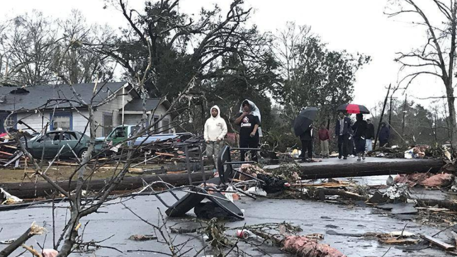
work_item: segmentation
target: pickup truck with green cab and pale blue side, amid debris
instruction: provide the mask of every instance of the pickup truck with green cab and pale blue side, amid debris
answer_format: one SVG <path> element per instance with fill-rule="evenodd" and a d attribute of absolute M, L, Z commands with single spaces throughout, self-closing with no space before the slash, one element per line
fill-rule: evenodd
<path fill-rule="evenodd" d="M 134 146 L 138 146 L 164 142 L 167 140 L 176 140 L 177 142 L 182 142 L 193 136 L 191 133 L 153 134 L 150 132 L 136 138 L 135 140 L 126 141 L 129 137 L 132 137 L 138 129 L 139 126 L 137 125 L 117 126 L 108 136 L 96 138 L 95 150 L 100 151 L 104 148 L 112 147 L 112 150 L 116 151 L 117 148 L 122 146 L 130 146 L 132 143 Z"/>

